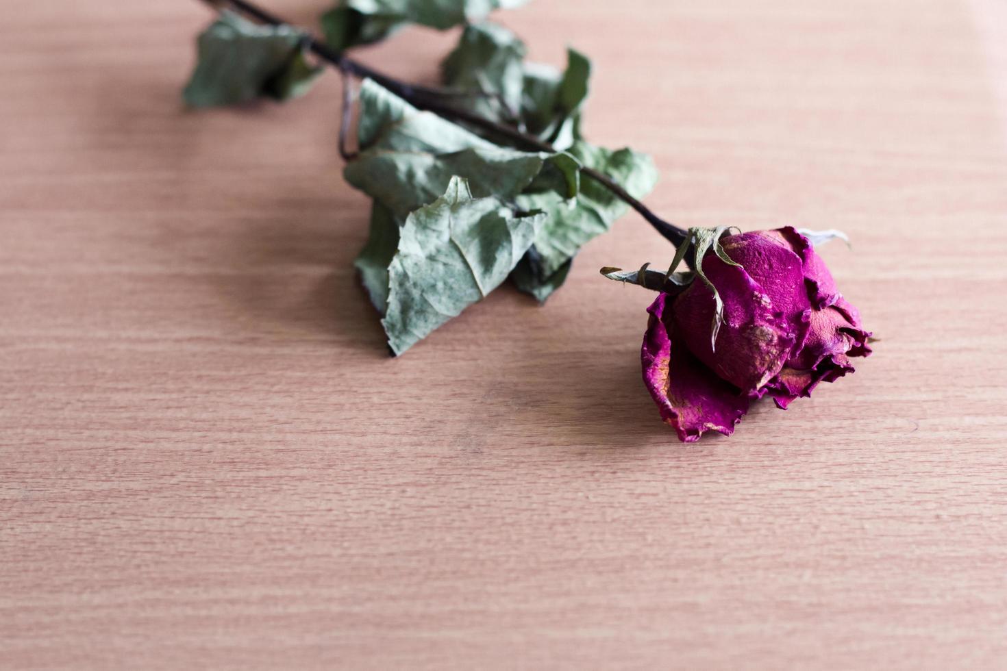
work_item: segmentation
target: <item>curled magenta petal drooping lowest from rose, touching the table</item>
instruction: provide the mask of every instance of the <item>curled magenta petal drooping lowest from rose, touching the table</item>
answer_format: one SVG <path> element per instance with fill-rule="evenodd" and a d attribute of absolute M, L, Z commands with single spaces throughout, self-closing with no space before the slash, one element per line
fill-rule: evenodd
<path fill-rule="evenodd" d="M 643 382 L 681 441 L 693 443 L 707 431 L 730 436 L 748 409 L 748 399 L 693 356 L 682 338 L 673 337 L 671 316 L 665 314 L 668 301 L 667 294 L 660 294 L 648 309 L 651 320 L 640 353 Z"/>

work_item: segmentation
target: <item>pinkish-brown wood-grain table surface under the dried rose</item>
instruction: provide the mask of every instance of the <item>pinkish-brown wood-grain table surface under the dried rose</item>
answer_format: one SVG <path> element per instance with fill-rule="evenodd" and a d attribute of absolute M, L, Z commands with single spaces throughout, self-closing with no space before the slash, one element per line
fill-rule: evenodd
<path fill-rule="evenodd" d="M 538 0 L 685 225 L 841 228 L 855 375 L 683 446 L 638 217 L 401 359 L 338 77 L 187 112 L 182 0 L 0 21 L 0 667 L 1004 668 L 1007 5 Z M 298 21 L 321 0 L 266 0 Z M 431 80 L 454 34 L 362 57 Z"/>

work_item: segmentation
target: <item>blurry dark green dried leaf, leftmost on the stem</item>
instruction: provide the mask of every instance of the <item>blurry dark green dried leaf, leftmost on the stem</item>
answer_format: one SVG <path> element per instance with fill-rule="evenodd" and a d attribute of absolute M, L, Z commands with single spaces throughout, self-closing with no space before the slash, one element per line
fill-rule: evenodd
<path fill-rule="evenodd" d="M 223 12 L 199 35 L 195 69 L 182 97 L 205 108 L 301 96 L 321 71 L 305 60 L 304 37 L 288 25 L 258 25 Z"/>

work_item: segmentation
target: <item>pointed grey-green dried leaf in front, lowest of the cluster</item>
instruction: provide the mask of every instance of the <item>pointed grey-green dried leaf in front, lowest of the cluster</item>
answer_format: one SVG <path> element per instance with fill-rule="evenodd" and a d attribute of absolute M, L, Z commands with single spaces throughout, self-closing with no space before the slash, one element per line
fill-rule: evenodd
<path fill-rule="evenodd" d="M 515 218 L 495 198 L 474 198 L 461 178 L 410 214 L 388 271 L 382 325 L 392 351 L 402 354 L 498 287 L 544 218 Z"/>

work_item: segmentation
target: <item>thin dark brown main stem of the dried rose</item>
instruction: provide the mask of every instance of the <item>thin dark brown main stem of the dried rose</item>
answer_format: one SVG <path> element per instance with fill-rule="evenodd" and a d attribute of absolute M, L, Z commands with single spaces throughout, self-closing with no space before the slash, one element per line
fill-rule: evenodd
<path fill-rule="evenodd" d="M 283 19 L 257 7 L 250 2 L 246 2 L 245 0 L 203 0 L 203 2 L 213 6 L 214 8 L 219 8 L 222 5 L 230 5 L 240 12 L 269 25 L 284 25 L 287 23 Z M 432 112 L 437 116 L 450 121 L 460 121 L 476 128 L 481 128 L 484 131 L 501 135 L 527 149 L 550 153 L 556 152 L 556 149 L 548 142 L 543 142 L 542 140 L 539 140 L 538 138 L 527 133 L 523 133 L 516 128 L 497 124 L 478 115 L 466 112 L 465 110 L 459 110 L 450 105 L 445 105 L 438 100 L 444 98 L 443 94 L 445 92 L 429 87 L 419 87 L 406 83 L 405 81 L 400 81 L 399 79 L 388 76 L 387 74 L 383 74 L 382 72 L 374 70 L 359 61 L 353 60 L 342 51 L 336 51 L 329 48 L 324 42 L 319 41 L 310 35 L 307 37 L 306 45 L 311 52 L 318 56 L 321 60 L 334 65 L 343 72 L 348 72 L 361 78 L 374 79 L 375 82 L 381 85 L 385 89 L 388 89 L 399 98 L 407 101 L 420 110 L 426 110 L 427 112 Z M 595 170 L 594 168 L 587 167 L 581 168 L 581 172 L 600 183 L 606 189 L 611 191 L 619 200 L 622 200 L 624 203 L 639 212 L 640 216 L 646 219 L 646 221 L 654 226 L 659 233 L 664 235 L 675 246 L 679 246 L 688 239 L 689 234 L 685 230 L 669 221 L 666 221 L 665 219 L 662 219 L 650 207 L 629 195 L 625 189 L 619 186 L 619 184 L 608 175 Z"/>

